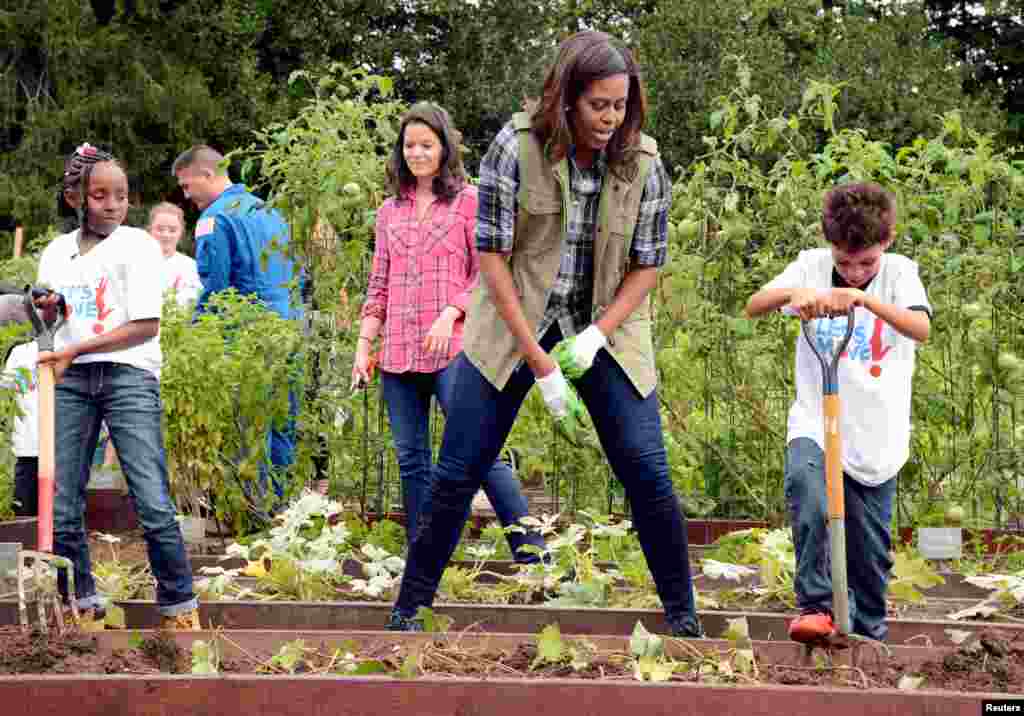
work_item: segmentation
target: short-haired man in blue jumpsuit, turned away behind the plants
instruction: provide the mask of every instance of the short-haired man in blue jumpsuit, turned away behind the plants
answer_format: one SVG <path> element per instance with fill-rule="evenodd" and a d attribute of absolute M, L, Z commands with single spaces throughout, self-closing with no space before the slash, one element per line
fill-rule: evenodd
<path fill-rule="evenodd" d="M 207 309 L 211 295 L 233 288 L 242 295 L 254 295 L 283 319 L 301 320 L 301 304 L 291 293 L 295 263 L 284 253 L 289 228 L 281 214 L 244 184 L 231 182 L 223 155 L 205 144 L 183 152 L 171 171 L 185 198 L 203 212 L 196 224 L 196 264 L 203 282 L 196 315 Z M 282 429 L 271 429 L 268 436 L 275 471 L 294 461 L 294 391 L 289 401 L 293 419 Z M 274 489 L 281 497 L 281 486 L 274 482 Z"/>

